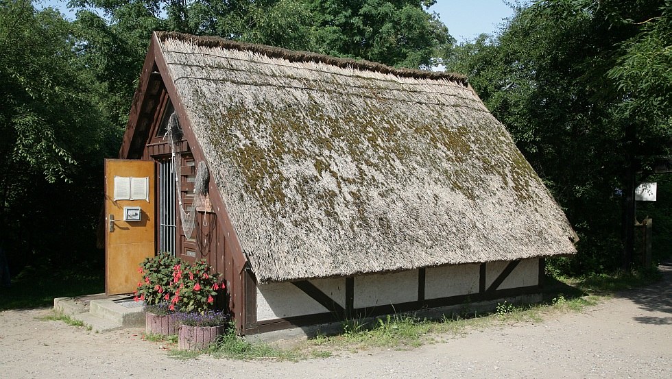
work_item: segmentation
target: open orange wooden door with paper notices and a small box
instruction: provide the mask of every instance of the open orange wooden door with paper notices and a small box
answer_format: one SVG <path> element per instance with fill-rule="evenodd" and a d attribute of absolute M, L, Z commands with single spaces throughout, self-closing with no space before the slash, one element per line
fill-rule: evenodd
<path fill-rule="evenodd" d="M 150 160 L 105 160 L 105 293 L 108 295 L 135 291 L 141 280 L 140 263 L 154 256 L 154 172 L 154 162 Z"/>

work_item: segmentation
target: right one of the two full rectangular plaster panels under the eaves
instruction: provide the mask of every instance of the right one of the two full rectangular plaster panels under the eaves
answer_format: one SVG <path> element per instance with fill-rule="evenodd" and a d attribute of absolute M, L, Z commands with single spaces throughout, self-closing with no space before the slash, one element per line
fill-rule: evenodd
<path fill-rule="evenodd" d="M 424 298 L 477 293 L 480 272 L 480 265 L 427 267 L 424 271 Z"/>

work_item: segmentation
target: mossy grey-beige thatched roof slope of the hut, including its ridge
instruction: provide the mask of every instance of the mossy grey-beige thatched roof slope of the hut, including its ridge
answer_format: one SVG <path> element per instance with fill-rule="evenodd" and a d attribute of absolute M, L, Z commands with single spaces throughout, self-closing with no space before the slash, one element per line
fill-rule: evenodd
<path fill-rule="evenodd" d="M 576 252 L 464 77 L 158 40 L 260 282 Z"/>

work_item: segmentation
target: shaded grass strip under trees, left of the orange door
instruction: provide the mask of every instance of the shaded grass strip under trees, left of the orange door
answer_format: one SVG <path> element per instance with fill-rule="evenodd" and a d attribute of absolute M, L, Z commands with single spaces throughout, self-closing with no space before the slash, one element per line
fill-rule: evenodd
<path fill-rule="evenodd" d="M 27 266 L 12 278 L 12 286 L 0 287 L 0 311 L 53 306 L 54 297 L 74 297 L 105 291 L 103 271 L 53 272 L 48 268 Z"/>

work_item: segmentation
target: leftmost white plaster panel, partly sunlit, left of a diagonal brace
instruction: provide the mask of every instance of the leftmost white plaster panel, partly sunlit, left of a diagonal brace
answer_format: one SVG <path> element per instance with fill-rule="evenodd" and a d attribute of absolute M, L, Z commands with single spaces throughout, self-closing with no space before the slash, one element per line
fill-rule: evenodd
<path fill-rule="evenodd" d="M 256 287 L 258 321 L 328 312 L 291 283 L 260 284 Z"/>

